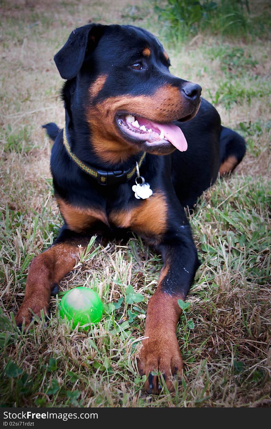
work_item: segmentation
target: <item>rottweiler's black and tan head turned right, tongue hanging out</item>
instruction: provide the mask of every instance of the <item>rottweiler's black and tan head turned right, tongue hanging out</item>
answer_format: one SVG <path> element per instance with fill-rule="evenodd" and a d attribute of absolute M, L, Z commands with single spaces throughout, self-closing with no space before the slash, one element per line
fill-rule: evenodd
<path fill-rule="evenodd" d="M 72 31 L 54 60 L 63 79 L 75 80 L 73 109 L 101 160 L 186 150 L 172 121 L 194 118 L 201 88 L 170 74 L 169 57 L 151 33 L 89 24 Z"/>

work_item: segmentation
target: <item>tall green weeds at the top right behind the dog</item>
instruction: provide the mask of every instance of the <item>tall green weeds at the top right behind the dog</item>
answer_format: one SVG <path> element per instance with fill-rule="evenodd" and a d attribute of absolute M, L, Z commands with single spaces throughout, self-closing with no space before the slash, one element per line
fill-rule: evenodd
<path fill-rule="evenodd" d="M 155 1 L 154 12 L 162 31 L 171 42 L 183 42 L 198 32 L 249 38 L 270 27 L 265 14 L 254 18 L 248 1 L 168 0 Z"/>

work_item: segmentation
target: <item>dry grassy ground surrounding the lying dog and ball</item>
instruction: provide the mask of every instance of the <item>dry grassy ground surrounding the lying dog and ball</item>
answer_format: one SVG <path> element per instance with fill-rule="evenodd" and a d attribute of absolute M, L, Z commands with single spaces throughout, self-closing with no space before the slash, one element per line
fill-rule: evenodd
<path fill-rule="evenodd" d="M 1 403 L 270 406 L 268 37 L 199 33 L 170 43 L 151 3 L 131 0 L 1 1 L 0 12 Z M 159 36 L 171 72 L 199 83 L 223 124 L 247 140 L 236 172 L 207 190 L 190 215 L 202 265 L 178 325 L 184 375 L 174 393 L 164 386 L 160 396 L 144 393 L 135 356 L 162 263 L 138 237 L 82 254 L 61 283 L 62 291 L 78 285 L 99 293 L 104 316 L 93 330 L 69 329 L 59 320 L 57 298 L 47 327 L 37 321 L 21 333 L 14 326 L 30 261 L 51 245 L 61 225 L 49 169 L 51 142 L 40 128 L 51 121 L 64 125 L 62 79 L 53 56 L 74 27 L 90 21 L 132 23 Z"/>

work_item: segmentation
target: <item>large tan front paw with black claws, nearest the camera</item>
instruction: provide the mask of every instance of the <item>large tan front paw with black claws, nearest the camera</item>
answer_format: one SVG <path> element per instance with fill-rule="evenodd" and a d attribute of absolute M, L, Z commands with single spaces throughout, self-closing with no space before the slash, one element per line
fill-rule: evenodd
<path fill-rule="evenodd" d="M 182 356 L 176 335 L 143 340 L 137 367 L 140 375 L 147 377 L 145 382 L 147 393 L 154 395 L 161 393 L 163 387 L 161 377 L 164 378 L 167 388 L 170 391 L 174 390 L 174 380 L 182 376 Z M 159 373 L 160 379 L 152 372 Z"/>

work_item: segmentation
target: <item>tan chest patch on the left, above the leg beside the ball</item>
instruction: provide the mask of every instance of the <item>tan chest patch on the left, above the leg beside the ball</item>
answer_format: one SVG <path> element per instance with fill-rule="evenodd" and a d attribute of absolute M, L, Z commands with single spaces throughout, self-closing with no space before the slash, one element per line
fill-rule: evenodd
<path fill-rule="evenodd" d="M 80 233 L 90 228 L 96 221 L 101 221 L 108 226 L 107 216 L 103 211 L 95 208 L 73 207 L 59 197 L 57 198 L 57 204 L 63 219 L 71 231 Z"/>

